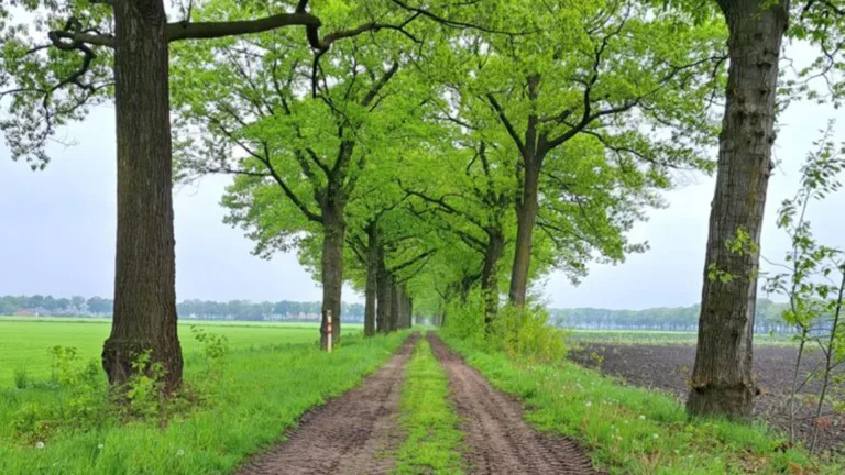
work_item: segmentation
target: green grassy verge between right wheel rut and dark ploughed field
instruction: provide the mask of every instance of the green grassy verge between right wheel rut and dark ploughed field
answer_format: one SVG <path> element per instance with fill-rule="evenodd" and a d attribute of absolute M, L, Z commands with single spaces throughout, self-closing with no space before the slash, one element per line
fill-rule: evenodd
<path fill-rule="evenodd" d="M 575 364 L 515 362 L 462 341 L 446 341 L 497 388 L 531 409 L 540 430 L 568 435 L 611 474 L 842 474 L 761 426 L 691 423 L 672 398 L 622 386 Z"/>

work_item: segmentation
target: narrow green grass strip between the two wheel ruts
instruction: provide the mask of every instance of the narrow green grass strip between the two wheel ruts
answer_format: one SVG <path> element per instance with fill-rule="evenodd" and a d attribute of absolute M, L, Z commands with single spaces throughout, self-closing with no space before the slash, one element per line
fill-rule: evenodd
<path fill-rule="evenodd" d="M 449 378 L 419 339 L 405 372 L 399 424 L 407 434 L 397 454 L 399 474 L 463 474 L 460 419 L 449 400 Z"/>

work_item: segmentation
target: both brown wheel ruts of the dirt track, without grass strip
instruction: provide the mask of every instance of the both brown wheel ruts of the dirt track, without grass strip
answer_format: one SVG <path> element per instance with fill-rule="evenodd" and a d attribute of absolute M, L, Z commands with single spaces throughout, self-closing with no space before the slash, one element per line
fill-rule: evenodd
<path fill-rule="evenodd" d="M 404 441 L 398 404 L 417 334 L 363 384 L 306 415 L 286 443 L 256 456 L 240 475 L 391 474 L 391 453 Z M 523 419 L 522 405 L 493 388 L 432 333 L 431 349 L 449 376 L 450 400 L 462 418 L 470 474 L 595 474 L 573 442 L 546 437 Z"/>

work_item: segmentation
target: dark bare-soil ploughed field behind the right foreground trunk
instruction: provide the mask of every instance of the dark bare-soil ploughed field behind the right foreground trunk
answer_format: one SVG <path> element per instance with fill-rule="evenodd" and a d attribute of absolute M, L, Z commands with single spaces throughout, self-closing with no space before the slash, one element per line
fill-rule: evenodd
<path fill-rule="evenodd" d="M 792 385 L 795 355 L 790 346 L 760 346 L 754 352 L 755 380 L 760 395 L 757 396 L 755 412 L 771 427 L 787 431 L 788 395 Z M 804 356 L 800 368 L 801 377 L 821 363 L 821 354 Z M 601 368 L 607 375 L 617 376 L 629 385 L 669 393 L 680 400 L 687 398 L 688 380 L 695 361 L 693 345 L 625 345 L 586 344 L 570 352 L 575 362 L 592 368 Z M 808 384 L 811 393 L 817 382 Z M 839 390 L 845 388 L 838 388 Z M 803 395 L 806 396 L 808 391 Z M 804 399 L 797 415 L 795 434 L 809 443 L 812 434 L 812 401 Z M 820 432 L 822 450 L 845 453 L 845 417 L 827 408 Z"/>

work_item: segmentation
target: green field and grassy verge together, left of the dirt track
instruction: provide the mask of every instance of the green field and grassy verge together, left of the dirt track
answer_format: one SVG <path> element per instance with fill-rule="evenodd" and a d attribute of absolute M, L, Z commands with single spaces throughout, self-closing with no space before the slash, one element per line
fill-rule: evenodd
<path fill-rule="evenodd" d="M 30 325 L 40 329 L 41 341 L 28 343 L 37 357 L 46 355 L 41 346 L 56 343 L 76 343 L 80 351 L 85 349 L 85 357 L 96 357 L 103 328 L 108 329 L 103 322 L 7 320 L 0 325 L 21 332 Z M 175 412 L 166 424 L 155 417 L 127 419 L 114 412 L 119 407 L 103 406 L 106 387 L 99 371 L 92 389 L 83 380 L 68 387 L 0 387 L 0 474 L 232 473 L 249 454 L 284 440 L 285 431 L 306 410 L 359 385 L 407 336 L 400 332 L 365 340 L 352 330 L 328 354 L 314 344 L 315 325 L 205 328 L 230 336 L 233 344 L 224 358 L 212 362 L 198 351 L 188 325 L 180 327 L 188 349 L 185 384 L 189 399 L 173 407 Z M 3 341 L 14 342 L 7 334 Z M 74 362 L 75 366 L 83 364 Z"/>

